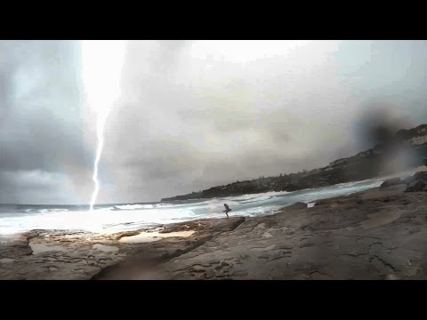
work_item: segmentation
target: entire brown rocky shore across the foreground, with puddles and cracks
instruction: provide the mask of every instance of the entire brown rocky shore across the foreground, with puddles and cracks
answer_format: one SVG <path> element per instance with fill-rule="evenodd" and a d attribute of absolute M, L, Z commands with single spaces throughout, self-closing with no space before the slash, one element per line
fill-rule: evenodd
<path fill-rule="evenodd" d="M 257 218 L 32 230 L 1 241 L 0 279 L 427 279 L 427 173 L 402 178 Z"/>

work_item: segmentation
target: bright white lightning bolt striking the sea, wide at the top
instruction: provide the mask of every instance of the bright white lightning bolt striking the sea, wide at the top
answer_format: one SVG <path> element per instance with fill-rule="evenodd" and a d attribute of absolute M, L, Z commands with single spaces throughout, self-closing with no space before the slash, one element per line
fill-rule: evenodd
<path fill-rule="evenodd" d="M 125 60 L 124 40 L 93 40 L 83 41 L 83 81 L 86 101 L 97 116 L 95 161 L 93 163 L 93 194 L 90 211 L 100 191 L 99 164 L 104 146 L 104 127 L 113 107 L 120 95 L 120 78 Z"/>

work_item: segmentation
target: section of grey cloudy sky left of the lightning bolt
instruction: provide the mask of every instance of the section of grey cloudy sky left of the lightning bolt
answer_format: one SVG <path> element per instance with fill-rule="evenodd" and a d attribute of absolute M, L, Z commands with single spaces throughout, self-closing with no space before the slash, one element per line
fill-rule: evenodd
<path fill-rule="evenodd" d="M 72 41 L 0 43 L 0 202 L 86 202 L 79 51 Z"/>

